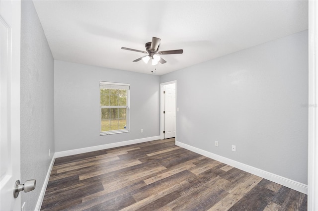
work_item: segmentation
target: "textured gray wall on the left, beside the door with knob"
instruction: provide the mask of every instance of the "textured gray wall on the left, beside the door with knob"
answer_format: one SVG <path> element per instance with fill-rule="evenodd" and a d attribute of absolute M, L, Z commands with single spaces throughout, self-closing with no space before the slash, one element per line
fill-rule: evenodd
<path fill-rule="evenodd" d="M 32 1 L 21 1 L 21 182 L 36 189 L 21 193 L 34 210 L 54 154 L 54 60 Z M 49 156 L 51 149 L 51 156 Z"/>

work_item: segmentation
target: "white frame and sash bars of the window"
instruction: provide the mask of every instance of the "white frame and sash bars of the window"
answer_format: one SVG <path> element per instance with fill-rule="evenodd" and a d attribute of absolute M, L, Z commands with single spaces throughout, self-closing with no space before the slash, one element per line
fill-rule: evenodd
<path fill-rule="evenodd" d="M 99 126 L 100 126 L 100 135 L 109 135 L 109 134 L 117 134 L 117 133 L 126 133 L 130 132 L 130 118 L 129 118 L 129 108 L 130 108 L 130 84 L 124 83 L 115 83 L 115 82 L 105 82 L 99 81 L 99 100 L 100 100 L 100 89 L 101 88 L 109 88 L 109 89 L 126 89 L 127 90 L 127 106 L 101 106 L 99 104 Z M 110 130 L 110 131 L 101 131 L 101 109 L 102 108 L 126 108 L 126 129 L 123 130 Z"/>

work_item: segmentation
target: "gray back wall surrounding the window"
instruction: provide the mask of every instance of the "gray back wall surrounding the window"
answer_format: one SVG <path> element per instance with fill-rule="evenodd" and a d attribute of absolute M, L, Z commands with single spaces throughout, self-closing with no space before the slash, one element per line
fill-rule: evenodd
<path fill-rule="evenodd" d="M 56 152 L 159 136 L 159 76 L 57 60 L 54 71 Z M 130 132 L 99 135 L 99 81 L 130 84 Z"/>

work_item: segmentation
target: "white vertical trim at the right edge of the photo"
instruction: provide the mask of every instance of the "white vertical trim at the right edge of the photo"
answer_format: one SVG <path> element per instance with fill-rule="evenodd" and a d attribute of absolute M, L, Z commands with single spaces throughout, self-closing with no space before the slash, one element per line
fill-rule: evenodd
<path fill-rule="evenodd" d="M 308 203 L 318 210 L 318 3 L 309 1 Z"/>

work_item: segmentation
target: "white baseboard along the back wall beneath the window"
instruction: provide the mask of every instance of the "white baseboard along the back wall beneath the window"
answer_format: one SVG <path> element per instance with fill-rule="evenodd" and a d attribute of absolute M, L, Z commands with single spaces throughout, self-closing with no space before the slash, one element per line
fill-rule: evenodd
<path fill-rule="evenodd" d="M 65 156 L 73 156 L 73 155 L 78 155 L 81 153 L 89 153 L 89 152 L 93 152 L 93 151 L 97 151 L 97 150 L 105 150 L 105 149 L 110 149 L 110 148 L 114 148 L 114 147 L 122 147 L 122 146 L 138 144 L 138 143 L 143 143 L 143 142 L 148 142 L 148 141 L 155 141 L 155 140 L 159 140 L 159 138 L 160 138 L 160 136 L 153 136 L 153 137 L 134 139 L 134 140 L 129 140 L 129 141 L 116 142 L 116 143 L 111 143 L 111 144 L 98 145 L 98 146 L 93 146 L 93 147 L 80 148 L 80 149 L 75 149 L 75 150 L 56 152 L 55 158 L 61 158 L 61 157 L 65 157 Z"/>

